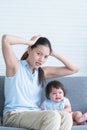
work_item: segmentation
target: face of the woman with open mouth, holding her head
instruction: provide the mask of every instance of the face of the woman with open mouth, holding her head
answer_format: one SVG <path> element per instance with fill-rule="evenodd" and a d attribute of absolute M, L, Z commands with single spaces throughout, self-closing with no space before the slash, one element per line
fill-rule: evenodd
<path fill-rule="evenodd" d="M 38 45 L 36 48 L 29 48 L 28 63 L 31 68 L 38 68 L 44 64 L 50 55 L 50 49 L 48 46 Z"/>

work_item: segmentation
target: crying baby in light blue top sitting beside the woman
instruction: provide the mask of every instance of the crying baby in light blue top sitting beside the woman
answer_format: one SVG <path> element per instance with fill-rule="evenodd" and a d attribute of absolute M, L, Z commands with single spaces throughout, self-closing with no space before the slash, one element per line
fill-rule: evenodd
<path fill-rule="evenodd" d="M 72 112 L 71 104 L 65 97 L 64 86 L 61 82 L 54 80 L 46 86 L 46 99 L 41 104 L 42 110 L 67 111 L 72 114 L 73 125 L 85 124 L 87 113 L 80 111 Z"/>

